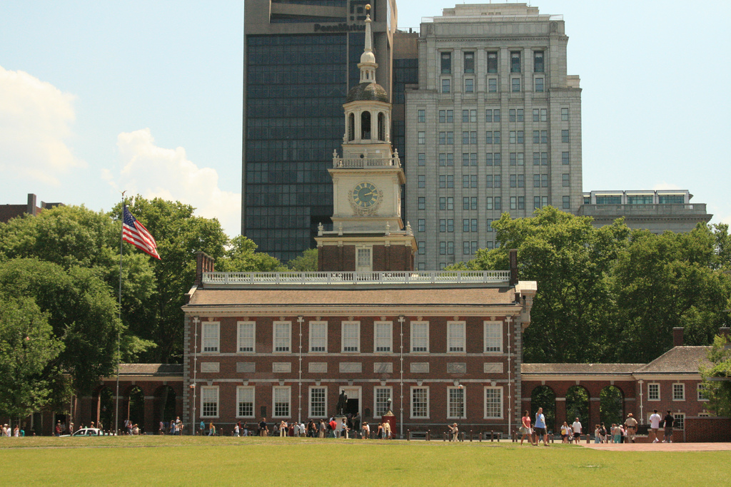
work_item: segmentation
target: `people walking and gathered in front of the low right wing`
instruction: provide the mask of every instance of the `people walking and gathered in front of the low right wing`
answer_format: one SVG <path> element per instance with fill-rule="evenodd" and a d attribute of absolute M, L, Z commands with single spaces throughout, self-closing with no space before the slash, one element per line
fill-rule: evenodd
<path fill-rule="evenodd" d="M 546 429 L 545 415 L 543 415 L 543 408 L 539 407 L 538 412 L 535 415 L 535 422 L 532 423 L 531 415 L 528 411 L 523 413 L 521 418 L 519 432 L 522 435 L 520 437 L 520 445 L 523 445 L 523 441 L 526 439 L 531 445 L 537 446 L 540 442 L 543 445 L 548 446 L 548 430 Z M 664 427 L 664 439 L 662 442 L 673 442 L 673 423 L 675 418 L 670 411 L 667 411 L 667 415 L 664 418 L 654 411 L 654 414 L 650 416 L 650 434 L 652 442 L 659 442 L 658 430 L 662 423 Z M 532 423 L 532 427 L 531 427 Z M 637 435 L 637 420 L 632 413 L 627 415 L 624 423 L 612 423 L 612 426 L 607 427 L 605 423 L 599 423 L 594 425 L 594 443 L 634 443 Z M 567 421 L 561 425 L 561 442 L 563 443 L 577 443 L 581 439 L 581 433 L 583 426 L 579 418 L 575 418 L 575 421 L 569 425 Z M 587 440 L 588 441 L 588 440 Z"/>

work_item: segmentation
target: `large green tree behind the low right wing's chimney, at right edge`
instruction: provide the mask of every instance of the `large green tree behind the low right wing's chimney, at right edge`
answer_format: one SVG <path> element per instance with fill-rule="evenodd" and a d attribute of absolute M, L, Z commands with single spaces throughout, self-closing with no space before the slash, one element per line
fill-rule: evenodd
<path fill-rule="evenodd" d="M 697 226 L 683 234 L 632 231 L 611 275 L 616 301 L 618 361 L 651 361 L 673 346 L 683 327 L 686 345 L 707 345 L 726 318 L 731 281 L 716 245 L 719 235 Z"/>

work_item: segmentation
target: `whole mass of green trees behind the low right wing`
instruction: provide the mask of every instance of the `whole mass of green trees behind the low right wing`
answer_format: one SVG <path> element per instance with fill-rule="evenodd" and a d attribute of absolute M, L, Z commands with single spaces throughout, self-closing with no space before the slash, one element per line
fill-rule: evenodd
<path fill-rule="evenodd" d="M 689 345 L 711 342 L 728 309 L 727 226 L 685 234 L 631 231 L 616 221 L 545 207 L 531 218 L 493 223 L 500 247 L 478 250 L 457 269 L 507 269 L 518 250 L 520 280 L 535 280 L 526 362 L 651 361 L 683 326 Z"/>

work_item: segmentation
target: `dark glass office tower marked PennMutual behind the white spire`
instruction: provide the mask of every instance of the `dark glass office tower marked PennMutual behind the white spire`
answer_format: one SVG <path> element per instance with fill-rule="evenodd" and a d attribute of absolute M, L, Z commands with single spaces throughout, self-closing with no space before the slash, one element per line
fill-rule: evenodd
<path fill-rule="evenodd" d="M 390 96 L 394 0 L 246 0 L 241 231 L 282 261 L 314 248 L 319 223 L 332 226 L 327 167 L 360 80 L 366 4 Z"/>

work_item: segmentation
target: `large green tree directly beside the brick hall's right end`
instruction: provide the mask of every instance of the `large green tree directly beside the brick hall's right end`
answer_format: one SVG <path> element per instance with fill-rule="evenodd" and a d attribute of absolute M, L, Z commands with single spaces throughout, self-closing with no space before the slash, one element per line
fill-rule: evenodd
<path fill-rule="evenodd" d="M 520 280 L 537 281 L 531 326 L 524 334 L 526 362 L 596 362 L 613 355 L 612 303 L 607 272 L 626 246 L 624 223 L 595 229 L 591 218 L 553 207 L 531 218 L 504 213 L 493 223 L 500 248 L 478 250 L 465 269 L 507 269 L 518 249 Z"/>

